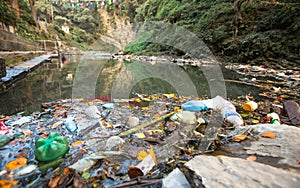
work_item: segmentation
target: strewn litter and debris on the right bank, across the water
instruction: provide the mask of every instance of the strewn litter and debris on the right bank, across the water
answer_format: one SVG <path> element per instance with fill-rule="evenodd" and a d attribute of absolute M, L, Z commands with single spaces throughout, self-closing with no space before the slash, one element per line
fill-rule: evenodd
<path fill-rule="evenodd" d="M 300 71 L 297 68 L 275 70 L 266 68 L 264 65 L 238 64 L 230 64 L 226 68 L 245 76 L 240 80 L 227 81 L 258 87 L 262 90 L 259 94 L 262 97 L 286 100 L 299 100 L 300 98 Z"/>

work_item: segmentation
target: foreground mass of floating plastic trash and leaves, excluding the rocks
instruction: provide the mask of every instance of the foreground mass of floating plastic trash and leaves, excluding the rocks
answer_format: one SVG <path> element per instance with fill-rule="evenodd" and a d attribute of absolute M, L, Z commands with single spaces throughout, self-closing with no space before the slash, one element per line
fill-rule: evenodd
<path fill-rule="evenodd" d="M 44 103 L 0 117 L 0 187 L 189 187 L 185 162 L 258 123 L 299 126 L 299 104 L 175 94 Z"/>

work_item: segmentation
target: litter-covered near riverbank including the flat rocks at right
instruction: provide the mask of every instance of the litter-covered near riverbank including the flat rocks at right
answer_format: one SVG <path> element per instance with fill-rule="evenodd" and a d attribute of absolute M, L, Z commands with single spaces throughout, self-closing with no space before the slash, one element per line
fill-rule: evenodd
<path fill-rule="evenodd" d="M 14 136 L 6 142 L 1 137 L 0 183 L 34 187 L 162 187 L 186 178 L 187 182 L 176 184 L 299 184 L 300 129 L 282 123 L 289 119 L 285 100 L 276 105 L 274 101 L 256 101 L 258 109 L 249 112 L 243 110 L 242 104 L 247 99 L 254 100 L 251 96 L 230 99 L 246 125 L 232 126 L 223 122 L 219 111 L 182 111 L 183 104 L 192 99 L 197 98 L 139 94 L 122 101 L 108 97 L 68 99 L 44 103 L 42 111 L 30 115 L 1 116 L 7 128 L 2 128 L 1 134 Z M 272 118 L 267 114 L 274 111 L 281 123 L 270 124 Z M 131 129 L 134 131 L 128 132 Z M 47 139 L 52 132 L 66 138 L 67 154 L 50 162 L 40 161 L 35 152 L 37 140 Z M 24 158 L 25 163 L 14 165 L 14 161 Z M 142 161 L 153 165 L 141 172 Z M 170 175 L 176 167 L 183 174 Z M 235 169 L 236 173 L 225 169 Z M 164 179 L 167 176 L 169 179 Z M 240 179 L 238 184 L 232 181 L 236 178 Z M 199 179 L 203 180 L 200 184 Z"/>

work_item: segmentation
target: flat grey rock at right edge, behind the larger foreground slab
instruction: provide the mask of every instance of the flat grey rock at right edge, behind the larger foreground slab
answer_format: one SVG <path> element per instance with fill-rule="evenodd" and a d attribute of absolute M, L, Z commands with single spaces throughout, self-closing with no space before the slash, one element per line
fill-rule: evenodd
<path fill-rule="evenodd" d="M 257 140 L 251 141 L 250 146 L 245 146 L 247 154 L 260 156 L 279 157 L 279 164 L 300 167 L 297 159 L 300 156 L 300 129 L 288 125 L 258 124 L 244 127 L 251 128 L 258 135 Z M 274 139 L 259 136 L 264 132 L 272 132 L 276 135 Z"/>

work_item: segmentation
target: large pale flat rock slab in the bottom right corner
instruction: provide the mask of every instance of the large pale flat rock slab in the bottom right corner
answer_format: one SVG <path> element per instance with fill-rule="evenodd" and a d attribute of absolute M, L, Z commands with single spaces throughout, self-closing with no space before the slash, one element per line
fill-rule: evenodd
<path fill-rule="evenodd" d="M 298 187 L 300 175 L 240 158 L 197 156 L 184 165 L 192 187 Z"/>

